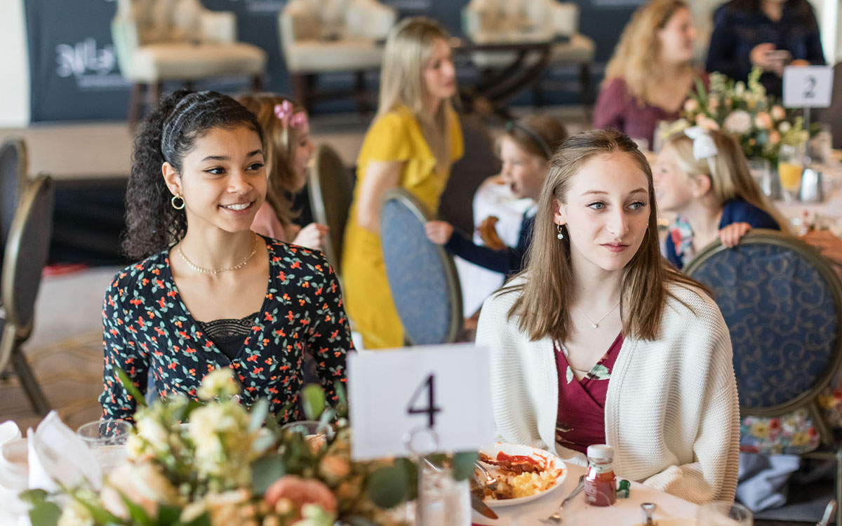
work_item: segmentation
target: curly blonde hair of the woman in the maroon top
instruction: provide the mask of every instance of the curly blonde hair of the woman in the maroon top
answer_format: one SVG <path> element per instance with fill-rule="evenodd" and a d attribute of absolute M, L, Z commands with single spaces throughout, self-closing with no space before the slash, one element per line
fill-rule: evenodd
<path fill-rule="evenodd" d="M 662 67 L 658 64 L 661 42 L 657 32 L 663 29 L 674 14 L 687 9 L 682 0 L 650 0 L 632 14 L 620 35 L 620 42 L 605 66 L 604 84 L 615 78 L 626 82 L 629 93 L 642 103 L 653 104 L 654 93 L 661 87 Z M 687 70 L 693 68 L 688 62 Z"/>

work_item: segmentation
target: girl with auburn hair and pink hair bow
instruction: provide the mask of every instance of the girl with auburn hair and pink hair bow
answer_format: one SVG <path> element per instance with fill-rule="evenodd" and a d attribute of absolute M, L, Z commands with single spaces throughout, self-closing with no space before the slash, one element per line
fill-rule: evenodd
<path fill-rule="evenodd" d="M 254 216 L 258 234 L 321 250 L 328 227 L 311 223 L 304 228 L 292 222 L 292 196 L 307 181 L 313 154 L 310 125 L 303 108 L 274 93 L 243 95 L 237 101 L 255 114 L 266 135 L 266 201 Z"/>

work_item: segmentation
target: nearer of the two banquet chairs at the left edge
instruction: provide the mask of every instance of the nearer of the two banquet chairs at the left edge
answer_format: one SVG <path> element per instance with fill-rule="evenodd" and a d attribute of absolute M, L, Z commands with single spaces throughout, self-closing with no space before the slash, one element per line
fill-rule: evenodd
<path fill-rule="evenodd" d="M 50 250 L 54 198 L 49 176 L 42 174 L 26 184 L 9 229 L 0 273 L 4 311 L 0 319 L 0 371 L 11 362 L 29 402 L 41 415 L 50 411 L 50 405 L 21 346 L 32 333 L 35 298 Z"/>

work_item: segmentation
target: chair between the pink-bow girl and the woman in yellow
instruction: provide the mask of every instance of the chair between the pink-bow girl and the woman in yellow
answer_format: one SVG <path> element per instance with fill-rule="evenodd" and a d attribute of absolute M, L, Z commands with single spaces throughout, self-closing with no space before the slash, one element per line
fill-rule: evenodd
<path fill-rule="evenodd" d="M 345 167 L 339 154 L 331 146 L 320 144 L 313 156 L 307 191 L 313 220 L 330 228 L 324 255 L 338 275 L 342 275 L 342 242 L 351 199 L 354 199 L 354 175 Z"/>

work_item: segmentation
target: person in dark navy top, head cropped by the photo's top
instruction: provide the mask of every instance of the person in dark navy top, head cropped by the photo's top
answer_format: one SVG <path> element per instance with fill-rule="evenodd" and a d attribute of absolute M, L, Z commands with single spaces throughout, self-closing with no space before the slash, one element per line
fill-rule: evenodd
<path fill-rule="evenodd" d="M 731 0 L 717 9 L 708 72 L 744 81 L 759 66 L 766 91 L 780 97 L 787 64 L 824 64 L 818 22 L 807 0 Z"/>

